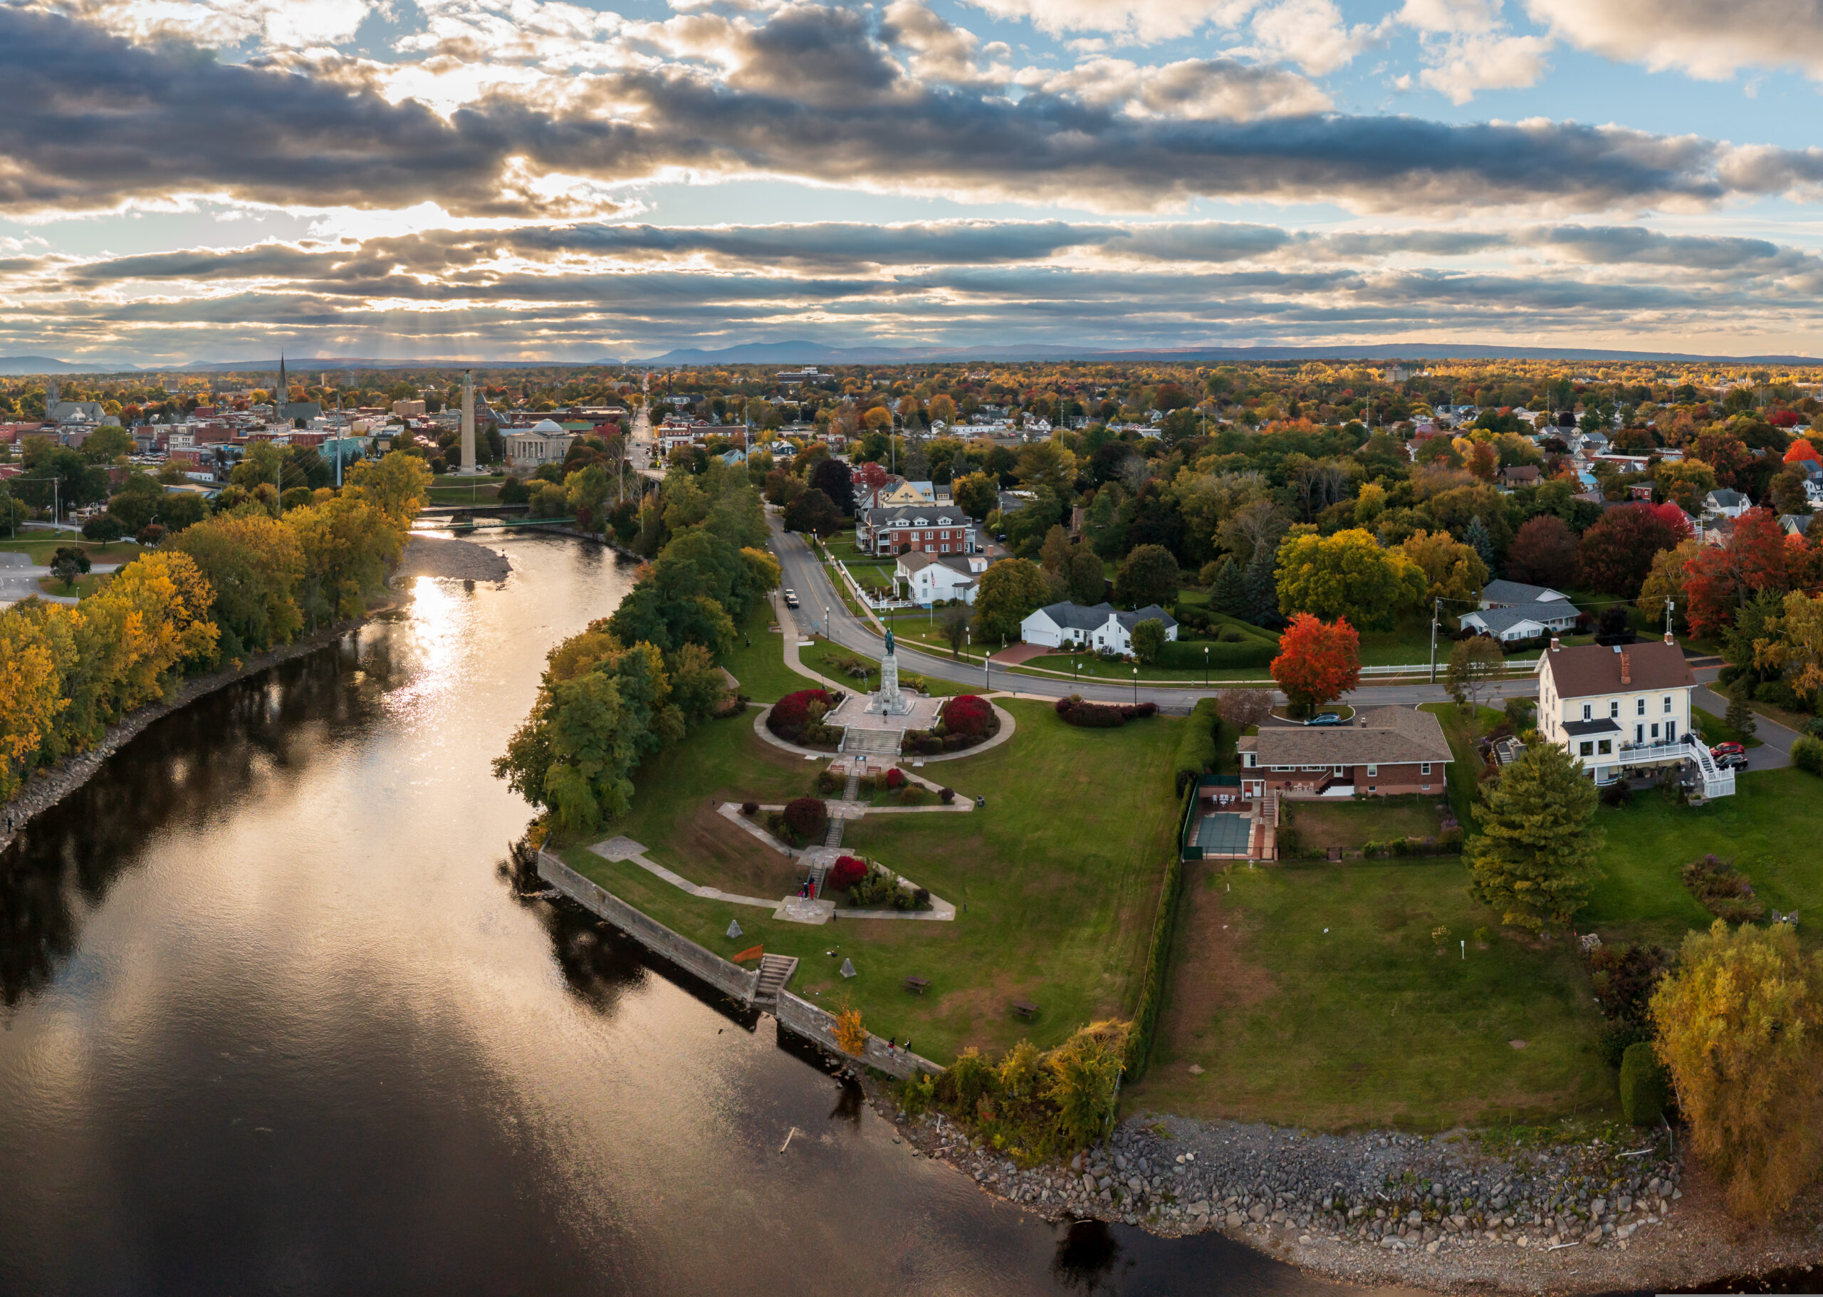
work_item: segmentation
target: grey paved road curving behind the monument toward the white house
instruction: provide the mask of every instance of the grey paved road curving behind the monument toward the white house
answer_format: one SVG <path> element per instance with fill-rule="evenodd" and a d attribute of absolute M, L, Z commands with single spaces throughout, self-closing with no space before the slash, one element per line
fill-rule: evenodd
<path fill-rule="evenodd" d="M 828 607 L 828 635 L 831 640 L 855 653 L 879 657 L 881 637 L 873 631 L 871 624 L 862 622 L 859 617 L 850 613 L 848 606 L 837 598 L 835 586 L 824 573 L 822 564 L 817 562 L 809 545 L 797 533 L 784 531 L 777 514 L 769 514 L 767 522 L 773 529 L 773 553 L 778 555 L 778 562 L 784 567 L 782 584 L 797 591 L 798 600 L 802 602 L 802 607 L 797 613 L 797 626 L 804 637 L 808 638 L 813 629 L 824 629 L 822 620 L 824 609 Z M 791 613 L 784 609 L 782 615 L 791 617 Z M 1132 702 L 1134 699 L 1134 688 L 1130 684 L 1094 684 L 1088 680 L 1072 684 L 1070 680 L 1050 680 L 1039 675 L 1015 675 L 999 668 L 983 671 L 979 666 L 964 666 L 961 662 L 952 662 L 950 659 L 921 653 L 913 648 L 901 648 L 899 662 L 902 669 L 915 675 L 930 675 L 939 680 L 972 684 L 983 690 L 1017 690 L 1019 693 L 1035 693 L 1052 699 L 1061 699 L 1068 693 L 1081 693 L 1085 699 L 1101 699 L 1107 702 Z M 1216 691 L 1220 690 L 1147 688 L 1141 684 L 1138 697 L 1141 700 L 1183 706 L 1189 700 L 1201 699 Z M 1495 686 L 1497 697 L 1502 699 L 1529 697 L 1537 691 L 1539 682 L 1529 675 L 1519 680 L 1504 680 Z M 1413 702 L 1438 702 L 1447 697 L 1449 693 L 1440 684 L 1375 684 L 1356 690 L 1345 700 L 1354 706 L 1409 706 Z"/>

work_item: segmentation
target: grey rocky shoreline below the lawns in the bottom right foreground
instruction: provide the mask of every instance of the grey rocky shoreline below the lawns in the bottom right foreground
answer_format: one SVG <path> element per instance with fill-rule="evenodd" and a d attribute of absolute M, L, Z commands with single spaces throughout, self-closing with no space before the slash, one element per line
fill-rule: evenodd
<path fill-rule="evenodd" d="M 1497 1147 L 1475 1133 L 1313 1135 L 1139 1115 L 1068 1166 L 1021 1169 L 941 1115 L 875 1107 L 917 1153 L 1048 1220 L 1209 1230 L 1314 1273 L 1438 1292 L 1666 1290 L 1823 1262 L 1818 1204 L 1745 1230 L 1672 1131 Z"/>

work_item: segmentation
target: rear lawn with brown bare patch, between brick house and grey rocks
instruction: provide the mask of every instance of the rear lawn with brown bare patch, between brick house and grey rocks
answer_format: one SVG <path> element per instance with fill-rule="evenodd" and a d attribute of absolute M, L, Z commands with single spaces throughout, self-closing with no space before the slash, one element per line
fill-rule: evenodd
<path fill-rule="evenodd" d="M 1573 943 L 1495 932 L 1480 949 L 1480 927 L 1499 919 L 1455 857 L 1189 865 L 1159 1036 L 1127 1102 L 1427 1131 L 1615 1109 Z"/>

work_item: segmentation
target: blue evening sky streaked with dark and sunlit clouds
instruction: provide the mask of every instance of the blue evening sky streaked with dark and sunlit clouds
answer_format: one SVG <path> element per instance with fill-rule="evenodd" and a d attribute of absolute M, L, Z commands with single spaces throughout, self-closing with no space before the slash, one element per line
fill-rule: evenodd
<path fill-rule="evenodd" d="M 0 0 L 0 356 L 1823 356 L 1823 0 Z"/>

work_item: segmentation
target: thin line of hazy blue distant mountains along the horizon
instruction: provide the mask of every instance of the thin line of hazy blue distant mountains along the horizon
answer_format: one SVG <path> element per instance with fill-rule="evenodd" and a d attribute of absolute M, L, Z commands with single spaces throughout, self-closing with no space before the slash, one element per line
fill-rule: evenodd
<path fill-rule="evenodd" d="M 1097 347 L 1057 347 L 1054 343 L 1008 343 L 1004 347 L 831 347 L 809 339 L 784 343 L 742 343 L 736 347 L 678 347 L 645 359 L 379 359 L 372 356 L 286 356 L 284 367 L 304 376 L 323 370 L 388 368 L 587 368 L 592 365 L 640 365 L 682 368 L 691 365 L 910 365 L 917 361 L 1427 361 L 1427 359 L 1562 359 L 1562 361 L 1637 361 L 1644 365 L 1816 365 L 1816 356 L 1701 356 L 1695 352 L 1635 352 L 1599 347 L 1508 347 L 1504 343 L 1375 343 L 1365 347 L 1148 347 L 1108 350 Z M 279 358 L 239 361 L 188 361 L 182 365 L 117 365 L 104 361 L 60 361 L 51 356 L 0 356 L 0 376 L 29 374 L 268 374 Z"/>

